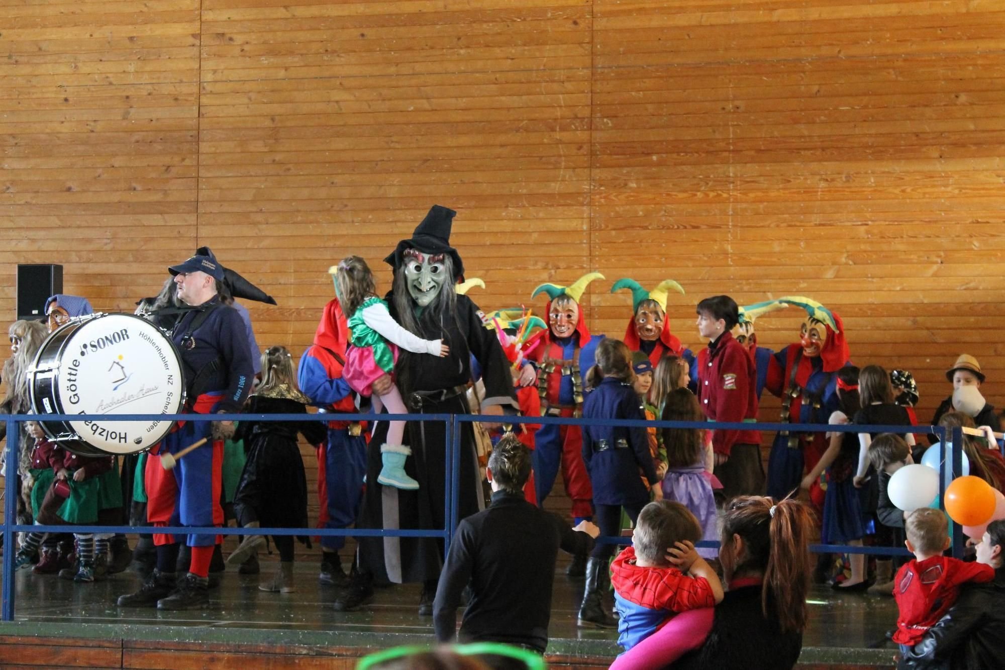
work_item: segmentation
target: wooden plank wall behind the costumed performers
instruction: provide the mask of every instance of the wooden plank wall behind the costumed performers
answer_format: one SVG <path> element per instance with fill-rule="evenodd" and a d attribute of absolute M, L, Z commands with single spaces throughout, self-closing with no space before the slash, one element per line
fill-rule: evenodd
<path fill-rule="evenodd" d="M 18 263 L 132 310 L 209 244 L 298 355 L 327 268 L 386 288 L 437 202 L 485 308 L 598 270 L 590 323 L 620 336 L 610 284 L 673 278 L 699 346 L 697 299 L 804 294 L 856 362 L 915 373 L 920 415 L 961 351 L 1000 405 L 1003 25 L 969 0 L 0 0 L 0 310 Z"/>

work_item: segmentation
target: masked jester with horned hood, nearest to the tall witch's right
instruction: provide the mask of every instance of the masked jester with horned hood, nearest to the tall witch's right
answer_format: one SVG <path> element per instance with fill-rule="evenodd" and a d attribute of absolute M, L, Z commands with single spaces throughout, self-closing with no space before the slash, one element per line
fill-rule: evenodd
<path fill-rule="evenodd" d="M 591 335 L 579 301 L 590 282 L 604 279 L 600 273 L 590 273 L 569 287 L 542 284 L 534 290 L 548 294 L 549 328 L 534 337 L 526 349 L 528 359 L 538 367 L 538 393 L 542 414 L 549 416 L 579 416 L 582 412 L 586 371 L 595 362 L 597 344 L 603 335 Z M 531 349 L 531 346 L 534 348 Z M 578 426 L 543 426 L 538 431 L 534 450 L 534 472 L 538 485 L 538 504 L 555 485 L 559 468 L 566 493 L 572 500 L 572 515 L 576 519 L 593 515 L 593 488 L 583 463 L 583 435 Z"/>

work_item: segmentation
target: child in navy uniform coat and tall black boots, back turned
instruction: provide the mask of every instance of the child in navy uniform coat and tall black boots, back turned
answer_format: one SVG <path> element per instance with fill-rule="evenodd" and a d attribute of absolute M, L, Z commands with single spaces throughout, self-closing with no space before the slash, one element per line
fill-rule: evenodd
<path fill-rule="evenodd" d="M 642 401 L 632 386 L 631 352 L 620 340 L 605 339 L 597 345 L 597 365 L 589 372 L 593 390 L 583 404 L 584 418 L 637 418 L 645 421 Z M 649 502 L 642 476 L 649 484 L 659 477 L 649 453 L 649 436 L 644 426 L 614 428 L 583 427 L 583 461 L 593 485 L 593 505 L 605 537 L 621 534 L 621 510 L 634 524 L 638 513 Z M 658 486 L 652 487 L 659 491 Z M 659 493 L 656 494 L 659 498 Z M 586 564 L 586 587 L 579 610 L 578 624 L 612 628 L 615 623 L 605 611 L 601 596 L 610 585 L 607 563 L 614 554 L 613 544 L 598 543 Z"/>

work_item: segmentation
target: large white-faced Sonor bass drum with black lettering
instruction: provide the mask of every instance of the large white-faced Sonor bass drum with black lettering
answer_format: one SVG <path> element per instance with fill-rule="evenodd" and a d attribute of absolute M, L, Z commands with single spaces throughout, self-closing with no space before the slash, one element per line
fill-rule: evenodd
<path fill-rule="evenodd" d="M 176 414 L 185 379 L 174 343 L 132 314 L 71 319 L 42 343 L 28 370 L 36 414 Z M 159 443 L 170 421 L 40 421 L 49 440 L 80 456 L 136 454 Z"/>

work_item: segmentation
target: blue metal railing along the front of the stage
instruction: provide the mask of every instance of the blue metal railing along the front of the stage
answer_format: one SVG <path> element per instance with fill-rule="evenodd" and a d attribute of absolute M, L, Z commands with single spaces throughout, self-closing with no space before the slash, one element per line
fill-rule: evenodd
<path fill-rule="evenodd" d="M 424 421 L 424 422 L 444 422 L 446 425 L 446 444 L 445 444 L 445 454 L 446 462 L 444 463 L 444 483 L 446 490 L 444 492 L 444 527 L 442 529 L 391 529 L 385 530 L 380 528 L 231 528 L 231 527 L 191 527 L 191 526 L 171 526 L 171 527 L 154 527 L 154 526 L 126 526 L 126 525 L 116 525 L 116 526 L 97 526 L 97 525 L 19 525 L 17 521 L 17 454 L 16 449 L 18 448 L 20 441 L 11 440 L 11 436 L 19 436 L 18 424 L 26 421 L 46 421 L 46 422 L 60 422 L 60 421 L 103 421 L 103 422 L 128 422 L 128 421 L 142 421 L 142 422 L 153 422 L 153 421 L 196 421 L 196 422 L 206 422 L 206 421 L 235 421 L 235 422 L 373 422 L 373 421 L 388 421 L 389 418 L 401 420 L 401 421 Z M 141 533 L 149 534 L 152 532 L 157 533 L 168 533 L 168 534 L 212 534 L 212 535 L 252 535 L 252 534 L 262 534 L 262 535 L 304 535 L 310 534 L 320 537 L 332 537 L 332 536 L 352 536 L 352 537 L 426 537 L 432 539 L 442 539 L 444 542 L 444 550 L 449 550 L 450 541 L 452 539 L 454 529 L 459 521 L 459 471 L 460 471 L 460 441 L 461 441 L 461 424 L 469 424 L 474 422 L 483 423 L 504 423 L 509 425 L 522 425 L 522 424 L 534 424 L 534 425 L 552 425 L 557 424 L 560 426 L 613 426 L 613 427 L 624 427 L 624 428 L 656 428 L 656 429 L 668 429 L 668 428 L 678 428 L 678 429 L 720 429 L 720 430 L 731 430 L 731 431 L 759 431 L 759 432 L 798 432 L 798 433 L 819 433 L 819 432 L 829 432 L 829 433 L 923 433 L 923 434 L 935 434 L 939 437 L 941 443 L 941 459 L 942 463 L 946 460 L 946 449 L 947 449 L 947 429 L 943 427 L 933 426 L 838 426 L 838 425 L 793 425 L 793 424 L 751 424 L 751 423 L 712 423 L 712 422 L 663 422 L 663 421 L 642 421 L 642 420 L 596 420 L 596 418 L 575 418 L 575 417 L 564 417 L 564 416 L 496 416 L 496 415 L 483 415 L 483 414 L 247 414 L 247 413 L 237 413 L 237 414 L 198 414 L 198 413 L 185 413 L 185 414 L 12 414 L 6 417 L 7 422 L 7 459 L 6 459 L 6 471 L 4 473 L 5 478 L 5 490 L 9 492 L 6 496 L 6 501 L 4 504 L 4 522 L 3 522 L 3 541 L 4 541 L 4 552 L 3 552 L 3 589 L 2 589 L 2 603 L 0 603 L 0 619 L 3 621 L 12 621 L 14 618 L 14 534 L 18 532 L 26 531 L 39 531 L 39 532 L 84 532 L 84 533 L 112 533 L 112 532 L 128 532 L 128 533 Z M 952 443 L 955 445 L 963 445 L 963 432 L 961 429 L 952 430 Z M 962 474 L 963 472 L 963 451 L 962 449 L 954 449 L 952 452 L 952 476 L 950 479 L 955 478 Z M 940 507 L 944 509 L 945 505 L 945 491 L 948 481 L 946 478 L 946 469 L 940 468 L 939 470 L 939 502 Z M 309 532 L 305 532 L 309 531 Z M 600 542 L 608 542 L 614 544 L 629 544 L 631 543 L 630 537 L 600 537 L 598 538 Z M 954 555 L 962 555 L 963 552 L 963 532 L 959 524 L 954 524 L 953 533 L 953 552 Z M 698 546 L 702 547 L 719 547 L 718 541 L 701 541 L 698 542 Z M 902 547 L 876 547 L 876 546 L 847 546 L 847 545 L 831 545 L 831 544 L 814 544 L 810 546 L 810 550 L 817 553 L 862 553 L 869 555 L 908 555 L 907 549 Z"/>

